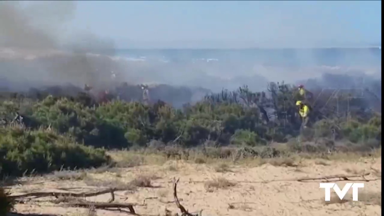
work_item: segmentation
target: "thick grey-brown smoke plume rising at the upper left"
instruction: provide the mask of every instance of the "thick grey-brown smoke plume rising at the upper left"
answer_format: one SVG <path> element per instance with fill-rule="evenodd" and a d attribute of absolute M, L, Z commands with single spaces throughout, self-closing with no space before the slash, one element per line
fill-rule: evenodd
<path fill-rule="evenodd" d="M 0 64 L 13 88 L 71 83 L 106 86 L 119 65 L 105 56 L 88 55 L 114 43 L 92 32 L 66 29 L 75 1 L 0 2 Z M 71 32 L 71 35 L 68 34 Z M 0 77 L 1 78 L 1 77 Z"/>

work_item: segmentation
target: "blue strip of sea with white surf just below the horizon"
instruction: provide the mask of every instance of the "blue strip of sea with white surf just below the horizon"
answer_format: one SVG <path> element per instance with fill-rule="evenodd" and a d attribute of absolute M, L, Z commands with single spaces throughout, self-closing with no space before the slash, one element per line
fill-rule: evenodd
<path fill-rule="evenodd" d="M 117 49 L 131 61 L 252 61 L 273 66 L 353 66 L 381 64 L 381 47 L 282 49 Z"/>

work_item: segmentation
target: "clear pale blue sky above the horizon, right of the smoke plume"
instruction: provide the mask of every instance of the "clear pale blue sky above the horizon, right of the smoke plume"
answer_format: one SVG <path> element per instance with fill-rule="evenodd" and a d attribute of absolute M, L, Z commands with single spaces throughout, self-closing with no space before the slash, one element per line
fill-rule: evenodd
<path fill-rule="evenodd" d="M 381 1 L 109 0 L 72 9 L 62 35 L 90 32 L 116 48 L 381 45 Z"/>

